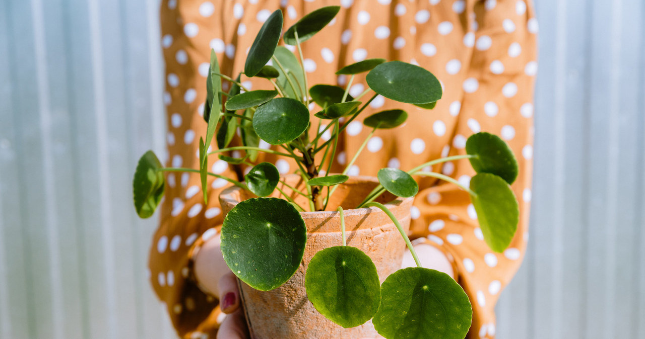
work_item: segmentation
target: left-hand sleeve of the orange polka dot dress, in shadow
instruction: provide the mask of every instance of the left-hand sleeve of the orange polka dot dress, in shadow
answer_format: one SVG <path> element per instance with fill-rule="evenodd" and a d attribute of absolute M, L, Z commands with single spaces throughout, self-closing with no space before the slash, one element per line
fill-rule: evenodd
<path fill-rule="evenodd" d="M 204 3 L 206 5 L 204 6 Z M 204 1 L 162 1 L 161 33 L 166 61 L 168 147 L 166 167 L 199 168 L 199 137 L 206 131 L 202 117 L 206 100 L 209 46 L 224 56 L 221 39 L 227 32 L 223 8 Z M 229 6 L 230 5 L 230 6 Z M 230 12 L 230 8 L 226 8 Z M 208 14 L 208 15 L 206 15 Z M 202 34 L 197 34 L 201 30 Z M 226 66 L 225 66 L 226 67 Z M 214 144 L 214 143 L 213 143 Z M 216 156 L 209 157 L 210 172 L 239 179 L 239 173 Z M 148 266 L 155 293 L 168 310 L 181 338 L 215 338 L 223 320 L 217 298 L 204 293 L 194 277 L 192 257 L 204 241 L 219 232 L 222 211 L 219 193 L 228 181 L 208 177 L 208 204 L 204 204 L 199 174 L 165 172 L 166 191 L 160 210 L 159 228 L 152 239 Z"/>

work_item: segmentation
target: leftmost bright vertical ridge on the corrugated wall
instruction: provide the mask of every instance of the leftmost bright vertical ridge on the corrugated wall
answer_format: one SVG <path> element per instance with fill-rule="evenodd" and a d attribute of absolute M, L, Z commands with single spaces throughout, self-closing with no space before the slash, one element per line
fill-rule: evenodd
<path fill-rule="evenodd" d="M 61 277 L 61 254 L 58 241 L 58 215 L 54 188 L 54 156 L 52 151 L 52 135 L 50 133 L 52 116 L 50 112 L 48 71 L 45 51 L 45 27 L 43 24 L 43 4 L 40 0 L 32 0 L 32 27 L 34 30 L 35 69 L 38 91 L 38 111 L 40 113 L 41 146 L 43 147 L 43 176 L 45 177 L 45 228 L 49 246 L 50 265 L 50 297 L 52 298 L 52 333 L 55 339 L 63 339 L 63 282 Z"/>

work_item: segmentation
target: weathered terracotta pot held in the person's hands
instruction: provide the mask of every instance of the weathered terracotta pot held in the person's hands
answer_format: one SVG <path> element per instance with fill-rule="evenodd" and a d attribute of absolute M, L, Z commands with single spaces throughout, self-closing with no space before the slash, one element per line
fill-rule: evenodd
<path fill-rule="evenodd" d="M 295 174 L 284 177 L 292 187 L 304 191 L 301 178 Z M 405 242 L 390 218 L 378 208 L 350 209 L 359 205 L 378 184 L 376 178 L 367 176 L 351 177 L 334 192 L 327 210 L 332 212 L 302 212 L 307 226 L 308 239 L 304 259 L 293 277 L 273 291 L 257 291 L 239 281 L 241 298 L 246 311 L 251 337 L 253 339 L 273 338 L 362 338 L 375 337 L 376 331 L 369 321 L 364 325 L 344 329 L 318 313 L 308 300 L 304 288 L 304 274 L 313 255 L 324 248 L 342 245 L 341 221 L 337 206 L 344 208 L 348 246 L 365 252 L 376 265 L 381 282 L 401 268 Z M 303 196 L 295 194 L 288 187 L 281 189 L 299 205 L 308 206 Z M 323 190 L 326 194 L 326 190 Z M 278 195 L 273 195 L 278 197 Z M 255 197 L 247 190 L 229 187 L 219 201 L 224 215 L 240 201 Z M 396 198 L 396 199 L 395 199 Z M 397 198 L 386 193 L 376 201 L 388 203 L 392 213 L 405 228 L 410 227 L 410 207 L 413 198 Z"/>

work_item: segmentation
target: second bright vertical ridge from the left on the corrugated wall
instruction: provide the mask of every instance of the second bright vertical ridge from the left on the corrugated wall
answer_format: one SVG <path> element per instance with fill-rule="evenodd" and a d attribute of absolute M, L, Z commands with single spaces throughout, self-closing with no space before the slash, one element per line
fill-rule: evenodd
<path fill-rule="evenodd" d="M 98 0 L 88 0 L 90 23 L 90 49 L 92 51 L 92 73 L 94 74 L 95 131 L 98 158 L 98 183 L 101 210 L 101 235 L 103 236 L 103 261 L 106 271 L 105 300 L 108 306 L 108 331 L 110 338 L 117 339 L 116 287 L 112 279 L 115 271 L 114 235 L 112 234 L 112 203 L 110 202 L 110 175 L 108 173 L 108 135 L 106 131 L 105 93 L 103 75 L 103 48 L 101 39 L 101 18 Z"/>

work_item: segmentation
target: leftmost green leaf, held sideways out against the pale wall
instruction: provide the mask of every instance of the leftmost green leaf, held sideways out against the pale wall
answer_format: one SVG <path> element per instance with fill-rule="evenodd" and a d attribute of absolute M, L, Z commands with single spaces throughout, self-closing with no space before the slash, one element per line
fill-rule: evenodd
<path fill-rule="evenodd" d="M 154 214 L 164 194 L 165 179 L 161 161 L 152 151 L 145 152 L 137 163 L 132 179 L 134 208 L 139 217 L 147 218 Z"/>

